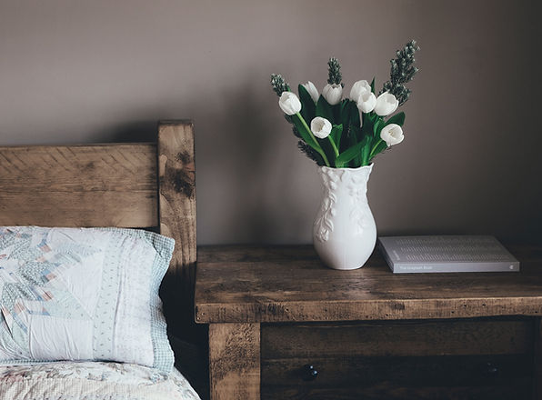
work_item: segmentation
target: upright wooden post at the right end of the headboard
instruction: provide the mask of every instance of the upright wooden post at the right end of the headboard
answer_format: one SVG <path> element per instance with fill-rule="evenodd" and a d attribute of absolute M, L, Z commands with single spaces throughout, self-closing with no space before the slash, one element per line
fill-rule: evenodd
<path fill-rule="evenodd" d="M 168 326 L 185 338 L 196 332 L 196 169 L 194 126 L 189 121 L 158 125 L 160 233 L 176 239 L 162 293 Z"/>

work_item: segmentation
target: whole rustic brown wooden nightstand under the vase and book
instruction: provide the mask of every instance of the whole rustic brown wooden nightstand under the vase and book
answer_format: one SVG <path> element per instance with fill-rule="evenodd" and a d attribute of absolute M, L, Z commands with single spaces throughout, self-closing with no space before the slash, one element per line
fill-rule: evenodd
<path fill-rule="evenodd" d="M 520 273 L 335 271 L 311 246 L 198 253 L 211 398 L 541 399 L 542 246 Z M 312 368 L 311 368 L 312 365 Z"/>

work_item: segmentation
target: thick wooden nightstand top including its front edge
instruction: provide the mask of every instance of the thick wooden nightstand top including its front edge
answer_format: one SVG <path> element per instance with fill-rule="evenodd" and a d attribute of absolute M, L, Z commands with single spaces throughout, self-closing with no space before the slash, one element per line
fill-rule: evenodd
<path fill-rule="evenodd" d="M 290 255 L 298 249 L 302 256 Z M 517 247 L 520 273 L 394 275 L 375 252 L 354 271 L 311 246 L 202 248 L 196 321 L 296 322 L 542 315 L 542 248 Z M 216 253 L 221 253 L 214 258 Z"/>

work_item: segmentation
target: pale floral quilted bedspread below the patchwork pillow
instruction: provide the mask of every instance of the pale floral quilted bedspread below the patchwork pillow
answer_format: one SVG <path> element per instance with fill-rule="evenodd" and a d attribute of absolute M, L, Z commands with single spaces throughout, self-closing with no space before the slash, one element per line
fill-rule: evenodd
<path fill-rule="evenodd" d="M 2 400 L 199 400 L 176 369 L 107 362 L 0 366 Z"/>

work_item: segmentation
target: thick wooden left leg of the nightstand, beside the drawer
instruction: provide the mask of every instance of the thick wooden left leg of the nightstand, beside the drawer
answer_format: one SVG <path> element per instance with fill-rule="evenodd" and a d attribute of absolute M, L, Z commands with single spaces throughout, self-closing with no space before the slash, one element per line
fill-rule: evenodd
<path fill-rule="evenodd" d="M 260 325 L 209 325 L 211 400 L 259 400 Z"/>

